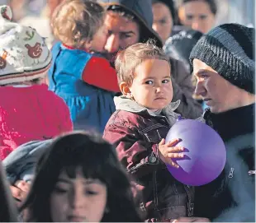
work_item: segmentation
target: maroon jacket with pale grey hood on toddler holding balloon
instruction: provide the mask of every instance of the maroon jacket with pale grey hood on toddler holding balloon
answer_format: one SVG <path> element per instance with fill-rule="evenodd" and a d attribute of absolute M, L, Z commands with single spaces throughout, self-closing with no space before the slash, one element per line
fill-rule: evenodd
<path fill-rule="evenodd" d="M 108 121 L 103 137 L 116 146 L 121 163 L 133 175 L 141 190 L 141 211 L 148 221 L 171 221 L 192 216 L 193 188 L 179 183 L 159 160 L 158 145 L 166 137 L 178 114 L 179 102 L 161 114 L 138 105 L 134 100 L 115 98 L 116 112 Z"/>

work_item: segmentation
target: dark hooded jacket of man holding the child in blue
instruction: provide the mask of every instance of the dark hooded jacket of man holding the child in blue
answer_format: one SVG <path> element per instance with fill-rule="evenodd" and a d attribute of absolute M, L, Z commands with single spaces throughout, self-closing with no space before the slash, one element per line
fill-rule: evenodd
<path fill-rule="evenodd" d="M 149 0 L 98 0 L 103 6 L 111 10 L 111 6 L 121 6 L 131 14 L 135 15 L 140 23 L 140 42 L 145 43 L 148 39 L 155 39 L 155 44 L 163 47 L 159 35 L 152 29 L 153 12 Z M 187 72 L 183 62 L 170 58 L 173 83 L 173 101 L 180 100 L 177 109 L 179 114 L 185 118 L 198 118 L 202 114 L 201 105 L 192 98 L 194 87 L 192 86 L 191 74 Z"/>

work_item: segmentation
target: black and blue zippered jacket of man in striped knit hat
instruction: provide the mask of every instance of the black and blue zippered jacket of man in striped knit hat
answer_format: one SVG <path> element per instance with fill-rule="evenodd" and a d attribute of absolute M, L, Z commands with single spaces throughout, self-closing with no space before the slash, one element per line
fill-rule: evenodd
<path fill-rule="evenodd" d="M 255 105 L 220 114 L 206 110 L 203 118 L 225 142 L 227 160 L 220 176 L 196 188 L 195 216 L 211 221 L 255 220 Z"/>

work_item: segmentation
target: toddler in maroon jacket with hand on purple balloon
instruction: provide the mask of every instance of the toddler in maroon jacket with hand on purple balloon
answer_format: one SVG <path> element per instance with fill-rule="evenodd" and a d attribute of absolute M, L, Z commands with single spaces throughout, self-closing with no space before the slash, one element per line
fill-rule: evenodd
<path fill-rule="evenodd" d="M 179 139 L 164 142 L 179 117 L 171 103 L 173 87 L 168 57 L 151 41 L 134 44 L 116 58 L 122 95 L 115 97 L 116 112 L 103 137 L 116 146 L 121 163 L 142 190 L 140 209 L 148 221 L 173 221 L 192 216 L 193 188 L 179 183 L 166 164 L 178 168 L 172 158 L 182 158 Z"/>

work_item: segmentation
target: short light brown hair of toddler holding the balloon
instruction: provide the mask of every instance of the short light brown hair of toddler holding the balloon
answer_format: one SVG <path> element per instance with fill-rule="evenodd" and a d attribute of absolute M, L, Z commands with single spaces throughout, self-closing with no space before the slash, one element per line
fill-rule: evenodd
<path fill-rule="evenodd" d="M 135 68 L 146 59 L 160 59 L 169 62 L 168 56 L 163 49 L 155 45 L 153 39 L 149 39 L 145 44 L 139 43 L 122 50 L 117 54 L 115 67 L 118 82 L 126 81 L 132 84 L 135 77 Z"/>

